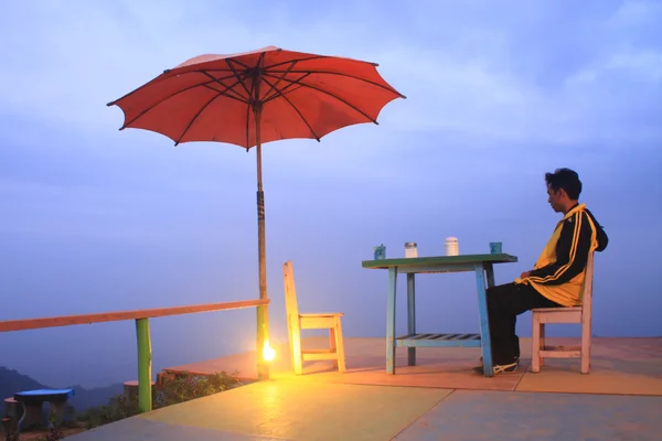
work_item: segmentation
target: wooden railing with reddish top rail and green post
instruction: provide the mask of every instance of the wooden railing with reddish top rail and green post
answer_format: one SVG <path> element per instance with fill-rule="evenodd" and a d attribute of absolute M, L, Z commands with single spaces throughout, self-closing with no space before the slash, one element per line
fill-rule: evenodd
<path fill-rule="evenodd" d="M 136 321 L 136 336 L 138 340 L 138 404 L 140 411 L 149 411 L 152 408 L 152 354 L 151 354 L 151 338 L 149 332 L 149 319 L 169 316 L 169 315 L 182 315 L 193 314 L 197 312 L 211 312 L 211 311 L 227 311 L 237 310 L 244 308 L 258 308 L 264 309 L 265 315 L 269 299 L 261 300 L 242 300 L 236 302 L 223 302 L 223 303 L 207 303 L 207 304 L 194 304 L 189 306 L 173 306 L 173 308 L 158 308 L 151 310 L 135 310 L 135 311 L 117 311 L 117 312 L 103 312 L 97 314 L 81 314 L 81 315 L 63 315 L 53 318 L 42 319 L 24 319 L 24 320 L 8 320 L 0 321 L 0 332 L 12 332 L 12 331 L 26 331 L 26 330 L 42 330 L 46 327 L 58 327 L 58 326 L 71 326 L 77 324 L 92 324 L 92 323 L 106 323 L 106 322 L 118 322 L 124 320 Z M 259 333 L 264 332 L 258 326 L 258 341 Z M 258 369 L 265 369 L 265 362 L 259 356 L 258 349 Z M 266 367 L 268 376 L 268 365 Z"/>

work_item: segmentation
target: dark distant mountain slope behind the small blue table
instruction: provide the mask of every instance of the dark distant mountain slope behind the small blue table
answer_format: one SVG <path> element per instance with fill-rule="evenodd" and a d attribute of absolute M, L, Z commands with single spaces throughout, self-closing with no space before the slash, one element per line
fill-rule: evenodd
<path fill-rule="evenodd" d="M 85 389 L 81 386 L 70 386 L 74 389 L 75 396 L 68 401 L 76 411 L 83 411 L 90 407 L 103 406 L 108 404 L 108 399 L 122 392 L 122 385 L 116 384 L 107 387 L 98 387 L 94 389 Z M 49 389 L 50 386 L 43 385 L 26 375 L 22 375 L 13 369 L 0 366 L 0 400 L 13 397 L 21 390 L 30 389 Z M 0 407 L 4 407 L 4 402 L 0 401 Z"/>

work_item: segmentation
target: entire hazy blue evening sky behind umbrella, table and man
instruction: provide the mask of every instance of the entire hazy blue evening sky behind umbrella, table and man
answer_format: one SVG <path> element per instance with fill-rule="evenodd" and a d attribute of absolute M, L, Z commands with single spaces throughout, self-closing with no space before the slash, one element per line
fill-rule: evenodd
<path fill-rule="evenodd" d="M 512 281 L 559 219 L 544 174 L 562 166 L 610 238 L 595 335 L 662 336 L 661 21 L 662 1 L 3 1 L 0 320 L 257 298 L 255 149 L 118 131 L 106 103 L 193 56 L 275 45 L 378 63 L 407 99 L 378 126 L 265 144 L 274 342 L 289 259 L 301 312 L 344 312 L 345 337 L 385 335 L 387 275 L 361 266 L 376 245 L 500 240 L 519 262 L 496 282 Z M 420 331 L 478 332 L 471 273 L 420 276 L 417 298 Z M 401 295 L 398 330 L 405 315 Z M 255 345 L 254 310 L 151 326 L 156 372 Z M 51 386 L 136 378 L 132 322 L 4 333 L 0 347 Z"/>

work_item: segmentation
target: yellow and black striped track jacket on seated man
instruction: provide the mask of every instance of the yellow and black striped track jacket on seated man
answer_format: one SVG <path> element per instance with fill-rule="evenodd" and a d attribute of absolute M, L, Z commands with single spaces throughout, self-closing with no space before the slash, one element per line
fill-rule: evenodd
<path fill-rule="evenodd" d="M 588 256 L 607 248 L 608 240 L 586 205 L 575 205 L 556 225 L 531 275 L 515 283 L 527 283 L 563 306 L 578 306 Z"/>

